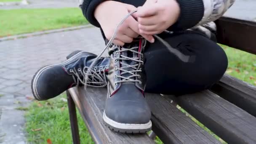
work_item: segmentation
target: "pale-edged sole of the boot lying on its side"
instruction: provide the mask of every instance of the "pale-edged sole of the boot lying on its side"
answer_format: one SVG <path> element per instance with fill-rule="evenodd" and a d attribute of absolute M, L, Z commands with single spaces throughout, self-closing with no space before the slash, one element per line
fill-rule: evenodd
<path fill-rule="evenodd" d="M 76 56 L 78 56 L 80 53 L 83 53 L 83 52 L 84 52 L 84 51 L 80 51 L 79 53 L 75 54 L 74 56 L 72 56 L 72 57 L 71 57 L 70 59 L 68 59 L 67 61 L 64 61 L 64 62 L 62 62 L 62 63 L 60 63 L 60 64 L 67 64 L 68 62 L 72 61 Z M 37 100 L 39 100 L 39 101 L 42 100 L 42 99 L 40 98 L 39 94 L 37 93 L 37 87 L 36 87 L 36 85 L 37 85 L 37 80 L 38 80 L 38 78 L 40 77 L 40 75 L 41 75 L 45 70 L 47 70 L 47 69 L 49 69 L 49 68 L 51 68 L 51 67 L 53 67 L 53 66 L 60 65 L 60 64 L 53 64 L 53 65 L 49 65 L 49 66 L 46 66 L 46 67 L 42 67 L 41 69 L 39 69 L 39 70 L 35 73 L 35 75 L 34 75 L 33 78 L 32 78 L 32 82 L 31 82 L 31 89 L 32 89 L 32 93 L 33 93 L 35 99 L 37 99 Z"/>

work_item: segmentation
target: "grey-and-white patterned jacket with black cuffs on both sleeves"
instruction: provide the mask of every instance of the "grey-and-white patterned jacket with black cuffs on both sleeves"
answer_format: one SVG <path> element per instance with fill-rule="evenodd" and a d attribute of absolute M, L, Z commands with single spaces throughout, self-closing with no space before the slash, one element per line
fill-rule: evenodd
<path fill-rule="evenodd" d="M 94 26 L 100 27 L 93 13 L 97 5 L 104 0 L 81 0 L 80 8 L 85 18 Z M 141 6 L 146 0 L 115 0 L 122 3 Z M 235 2 L 235 0 L 177 0 L 181 13 L 178 21 L 168 31 L 197 30 L 204 32 L 209 38 L 216 32 L 213 23 L 219 19 Z"/>

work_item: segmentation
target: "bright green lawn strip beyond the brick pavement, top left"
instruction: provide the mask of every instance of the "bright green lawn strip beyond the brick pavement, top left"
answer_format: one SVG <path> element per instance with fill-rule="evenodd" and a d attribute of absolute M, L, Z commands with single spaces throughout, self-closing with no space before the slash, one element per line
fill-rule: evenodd
<path fill-rule="evenodd" d="M 0 10 L 0 37 L 83 24 L 79 8 Z"/>

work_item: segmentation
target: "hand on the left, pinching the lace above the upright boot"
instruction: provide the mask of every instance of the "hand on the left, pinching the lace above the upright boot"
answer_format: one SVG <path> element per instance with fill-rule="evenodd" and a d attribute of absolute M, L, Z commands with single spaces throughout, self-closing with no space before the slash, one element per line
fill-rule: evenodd
<path fill-rule="evenodd" d="M 115 27 L 122 21 L 122 19 L 136 7 L 125 3 L 120 3 L 112 0 L 107 0 L 97 6 L 94 16 L 101 25 L 101 28 L 108 40 L 112 37 L 115 31 Z M 125 43 L 131 43 L 133 38 L 139 36 L 139 24 L 132 17 L 129 16 L 123 24 L 120 25 L 117 31 L 117 35 L 114 44 L 123 46 Z M 154 43 L 152 35 L 141 35 L 146 40 Z"/>

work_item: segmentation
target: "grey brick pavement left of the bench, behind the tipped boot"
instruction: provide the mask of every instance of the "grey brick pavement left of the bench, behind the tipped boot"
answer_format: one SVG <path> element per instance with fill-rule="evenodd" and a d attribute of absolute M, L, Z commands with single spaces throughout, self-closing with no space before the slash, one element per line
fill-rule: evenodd
<path fill-rule="evenodd" d="M 24 112 L 15 108 L 27 106 L 37 69 L 64 61 L 72 51 L 98 54 L 103 47 L 94 27 L 0 42 L 0 144 L 25 144 Z"/>

